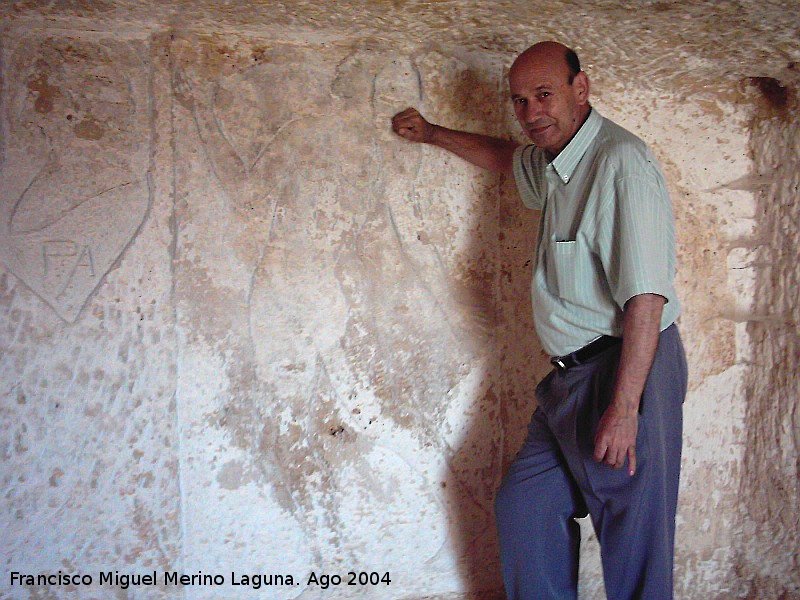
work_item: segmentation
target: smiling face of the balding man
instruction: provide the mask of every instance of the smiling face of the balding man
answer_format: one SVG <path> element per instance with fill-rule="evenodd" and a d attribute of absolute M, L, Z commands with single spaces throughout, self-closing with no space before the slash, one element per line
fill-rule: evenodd
<path fill-rule="evenodd" d="M 531 141 L 554 158 L 580 129 L 588 112 L 589 80 L 570 70 L 562 54 L 521 56 L 511 67 L 514 113 Z"/>

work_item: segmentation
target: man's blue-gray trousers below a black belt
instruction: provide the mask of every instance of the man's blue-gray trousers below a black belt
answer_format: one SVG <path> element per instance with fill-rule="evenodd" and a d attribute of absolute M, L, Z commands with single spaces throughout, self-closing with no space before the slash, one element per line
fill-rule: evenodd
<path fill-rule="evenodd" d="M 678 328 L 661 332 L 642 394 L 636 474 L 594 461 L 620 347 L 536 388 L 528 436 L 497 492 L 503 581 L 510 600 L 576 598 L 580 527 L 591 515 L 609 600 L 672 598 L 686 358 Z"/>

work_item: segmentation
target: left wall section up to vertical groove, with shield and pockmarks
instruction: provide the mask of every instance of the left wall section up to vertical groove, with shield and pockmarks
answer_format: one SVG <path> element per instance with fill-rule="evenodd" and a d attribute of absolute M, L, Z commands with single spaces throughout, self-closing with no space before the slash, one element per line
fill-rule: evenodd
<path fill-rule="evenodd" d="M 107 598 L 10 573 L 180 561 L 168 99 L 147 39 L 3 39 L 0 595 Z"/>

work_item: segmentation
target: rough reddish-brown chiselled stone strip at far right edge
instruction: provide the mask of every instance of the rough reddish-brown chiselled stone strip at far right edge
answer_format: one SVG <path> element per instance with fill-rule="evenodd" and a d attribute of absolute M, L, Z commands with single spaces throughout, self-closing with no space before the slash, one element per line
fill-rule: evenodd
<path fill-rule="evenodd" d="M 756 302 L 747 331 L 753 362 L 745 394 L 747 451 L 740 483 L 746 536 L 737 564 L 748 598 L 800 592 L 800 66 L 752 78 L 762 94 L 751 125 L 758 232 L 752 245 Z"/>

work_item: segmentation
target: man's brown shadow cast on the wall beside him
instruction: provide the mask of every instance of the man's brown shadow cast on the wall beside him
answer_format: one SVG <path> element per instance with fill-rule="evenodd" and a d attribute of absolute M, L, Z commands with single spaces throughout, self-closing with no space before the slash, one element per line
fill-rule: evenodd
<path fill-rule="evenodd" d="M 452 72 L 445 126 L 506 135 L 503 79 L 498 88 L 477 71 Z M 431 114 L 432 120 L 439 118 Z M 447 156 L 437 159 L 447 160 Z M 451 160 L 459 160 L 451 158 Z M 494 497 L 519 449 L 534 410 L 533 392 L 548 360 L 536 338 L 530 306 L 536 213 L 520 201 L 513 178 L 478 175 L 471 200 L 475 215 L 460 270 L 467 303 L 481 330 L 477 349 L 487 357 L 482 395 L 472 400 L 468 422 L 449 461 L 444 482 L 451 507 L 451 538 L 470 599 L 505 598 L 494 521 Z M 487 439 L 491 443 L 487 445 Z M 487 453 L 487 449 L 489 453 Z"/>

